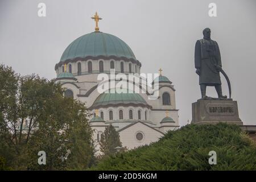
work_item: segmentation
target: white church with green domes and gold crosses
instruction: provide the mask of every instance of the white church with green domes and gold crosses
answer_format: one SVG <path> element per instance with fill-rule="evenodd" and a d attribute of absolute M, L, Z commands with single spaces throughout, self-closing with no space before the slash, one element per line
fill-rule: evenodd
<path fill-rule="evenodd" d="M 98 20 L 101 18 L 97 13 L 93 19 L 96 21 L 95 31 L 69 44 L 55 65 L 55 71 L 56 82 L 65 88 L 65 96 L 84 102 L 92 113 L 89 123 L 94 129 L 96 149 L 99 149 L 101 134 L 110 124 L 118 131 L 123 147 L 129 149 L 156 142 L 168 130 L 177 129 L 179 115 L 175 88 L 161 70 L 159 97 L 155 100 L 148 98 L 148 92 L 98 92 L 100 73 L 110 75 L 114 69 L 115 74 L 140 74 L 142 63 L 123 40 L 99 31 Z"/>

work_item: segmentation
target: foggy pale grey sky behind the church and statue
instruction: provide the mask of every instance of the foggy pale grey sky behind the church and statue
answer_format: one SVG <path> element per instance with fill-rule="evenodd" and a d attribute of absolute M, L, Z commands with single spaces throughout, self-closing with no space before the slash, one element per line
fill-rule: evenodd
<path fill-rule="evenodd" d="M 38 3 L 46 3 L 46 17 L 38 16 Z M 210 2 L 217 17 L 208 16 Z M 38 73 L 54 78 L 55 64 L 64 49 L 81 35 L 94 31 L 90 18 L 101 18 L 100 31 L 118 36 L 141 61 L 144 73 L 170 78 L 176 89 L 180 125 L 191 121 L 191 104 L 200 98 L 194 68 L 194 48 L 209 27 L 218 42 L 222 68 L 232 85 L 244 125 L 256 125 L 256 1 L 148 1 L 148 0 L 0 0 L 0 64 L 22 75 Z M 228 86 L 222 76 L 222 90 Z M 217 96 L 208 87 L 208 96 Z"/>

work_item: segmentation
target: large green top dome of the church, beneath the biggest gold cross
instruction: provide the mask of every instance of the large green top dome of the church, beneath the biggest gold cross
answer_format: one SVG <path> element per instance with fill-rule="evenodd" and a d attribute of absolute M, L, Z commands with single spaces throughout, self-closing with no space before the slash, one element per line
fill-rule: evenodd
<path fill-rule="evenodd" d="M 136 60 L 133 51 L 123 40 L 104 32 L 92 32 L 80 36 L 69 44 L 60 61 L 88 56 L 116 56 Z"/>

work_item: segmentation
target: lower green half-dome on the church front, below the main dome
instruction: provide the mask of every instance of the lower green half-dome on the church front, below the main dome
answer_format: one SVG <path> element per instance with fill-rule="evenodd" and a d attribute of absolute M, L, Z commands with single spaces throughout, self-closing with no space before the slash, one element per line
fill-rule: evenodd
<path fill-rule="evenodd" d="M 113 92 L 112 92 L 113 90 Z M 138 93 L 129 93 L 127 89 L 111 89 L 108 92 L 100 94 L 94 101 L 90 109 L 100 107 L 117 106 L 142 106 L 151 107 L 144 98 Z"/>

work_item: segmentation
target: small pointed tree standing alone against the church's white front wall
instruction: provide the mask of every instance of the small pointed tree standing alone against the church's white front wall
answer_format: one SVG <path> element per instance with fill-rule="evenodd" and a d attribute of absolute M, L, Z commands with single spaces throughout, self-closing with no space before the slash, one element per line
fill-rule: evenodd
<path fill-rule="evenodd" d="M 100 151 L 104 156 L 108 156 L 115 153 L 115 147 L 122 147 L 122 142 L 119 133 L 112 125 L 109 125 L 101 136 Z"/>

